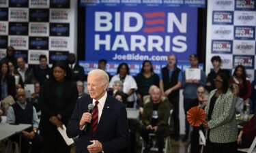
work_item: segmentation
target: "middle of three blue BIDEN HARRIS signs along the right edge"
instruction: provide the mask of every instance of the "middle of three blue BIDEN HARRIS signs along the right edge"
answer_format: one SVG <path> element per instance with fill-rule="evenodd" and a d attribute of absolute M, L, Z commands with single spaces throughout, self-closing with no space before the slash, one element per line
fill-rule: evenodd
<path fill-rule="evenodd" d="M 255 40 L 255 27 L 234 27 L 234 39 Z"/>

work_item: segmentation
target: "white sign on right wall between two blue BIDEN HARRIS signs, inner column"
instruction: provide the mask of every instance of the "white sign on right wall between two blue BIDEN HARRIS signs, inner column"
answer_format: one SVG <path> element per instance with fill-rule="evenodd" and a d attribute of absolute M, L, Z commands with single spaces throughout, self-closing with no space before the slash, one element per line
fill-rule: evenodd
<path fill-rule="evenodd" d="M 233 39 L 233 26 L 212 25 L 212 39 Z"/>

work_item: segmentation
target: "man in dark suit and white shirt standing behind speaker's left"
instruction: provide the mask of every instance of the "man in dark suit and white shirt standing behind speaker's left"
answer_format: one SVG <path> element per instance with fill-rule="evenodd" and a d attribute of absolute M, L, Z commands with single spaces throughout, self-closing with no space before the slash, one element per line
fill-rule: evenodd
<path fill-rule="evenodd" d="M 76 56 L 74 53 L 68 54 L 68 65 L 71 70 L 71 80 L 74 82 L 77 81 L 85 81 L 85 70 L 83 67 L 79 65 L 78 62 L 76 62 Z"/>

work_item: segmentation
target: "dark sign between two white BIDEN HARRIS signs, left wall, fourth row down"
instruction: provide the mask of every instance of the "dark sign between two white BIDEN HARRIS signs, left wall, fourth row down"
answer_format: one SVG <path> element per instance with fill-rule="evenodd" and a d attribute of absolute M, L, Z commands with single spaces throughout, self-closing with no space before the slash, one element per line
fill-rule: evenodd
<path fill-rule="evenodd" d="M 48 37 L 29 37 L 29 50 L 48 50 Z"/>

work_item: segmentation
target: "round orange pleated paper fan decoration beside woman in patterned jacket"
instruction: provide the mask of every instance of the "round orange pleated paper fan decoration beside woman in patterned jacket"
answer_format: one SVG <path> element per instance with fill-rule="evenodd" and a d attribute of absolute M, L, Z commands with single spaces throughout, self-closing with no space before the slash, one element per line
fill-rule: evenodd
<path fill-rule="evenodd" d="M 205 122 L 206 114 L 201 107 L 195 106 L 188 110 L 186 119 L 188 120 L 189 124 L 198 127 Z"/>

